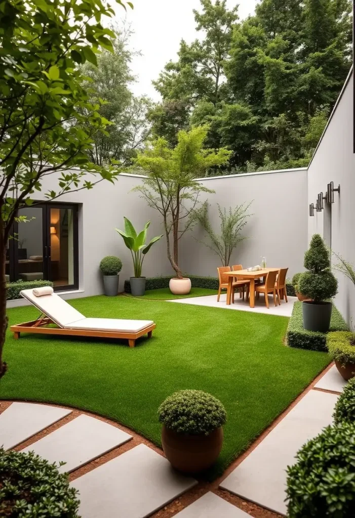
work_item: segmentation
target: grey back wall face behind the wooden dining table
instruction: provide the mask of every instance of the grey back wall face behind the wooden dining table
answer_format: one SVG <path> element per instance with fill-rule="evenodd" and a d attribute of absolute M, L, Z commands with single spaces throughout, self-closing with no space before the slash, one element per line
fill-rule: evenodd
<path fill-rule="evenodd" d="M 231 264 L 249 267 L 261 264 L 265 256 L 268 266 L 288 267 L 288 277 L 303 270 L 303 254 L 307 246 L 307 169 L 262 172 L 229 177 L 203 179 L 201 182 L 215 194 L 201 199 L 210 203 L 209 218 L 219 230 L 218 205 L 235 207 L 253 200 L 253 213 L 244 227 L 249 239 L 239 243 Z M 204 232 L 196 226 L 181 242 L 181 267 L 189 274 L 217 276 L 219 257 L 201 242 Z"/>

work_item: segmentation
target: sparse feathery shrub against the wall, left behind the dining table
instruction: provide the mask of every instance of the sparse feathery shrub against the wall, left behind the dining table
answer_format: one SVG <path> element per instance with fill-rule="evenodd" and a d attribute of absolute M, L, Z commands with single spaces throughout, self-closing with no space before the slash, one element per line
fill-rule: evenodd
<path fill-rule="evenodd" d="M 193 217 L 201 224 L 206 232 L 206 237 L 210 241 L 209 243 L 203 242 L 203 244 L 218 255 L 223 266 L 229 266 L 235 248 L 241 241 L 248 239 L 241 233 L 248 223 L 248 218 L 252 215 L 248 214 L 251 203 L 237 205 L 233 209 L 230 207 L 228 212 L 225 207 L 221 209 L 218 204 L 220 234 L 215 232 L 209 221 L 208 202 L 204 202 L 200 208 L 193 212 Z"/>

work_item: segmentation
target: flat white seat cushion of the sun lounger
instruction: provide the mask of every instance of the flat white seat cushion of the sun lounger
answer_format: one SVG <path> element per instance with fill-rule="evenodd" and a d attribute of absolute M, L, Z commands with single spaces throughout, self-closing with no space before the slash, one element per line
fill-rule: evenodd
<path fill-rule="evenodd" d="M 138 333 L 154 324 L 152 320 L 121 320 L 121 319 L 81 319 L 65 325 L 65 329 L 81 329 L 90 331 L 113 331 L 118 333 Z"/>

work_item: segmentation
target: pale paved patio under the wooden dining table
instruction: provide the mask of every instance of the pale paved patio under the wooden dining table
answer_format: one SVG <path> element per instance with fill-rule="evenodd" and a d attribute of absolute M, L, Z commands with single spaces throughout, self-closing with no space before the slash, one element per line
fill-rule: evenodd
<path fill-rule="evenodd" d="M 269 309 L 265 305 L 264 295 L 261 295 L 259 300 L 255 300 L 255 307 L 251 308 L 249 302 L 239 298 L 239 294 L 236 293 L 234 304 L 226 305 L 226 295 L 222 294 L 219 302 L 217 302 L 217 295 L 206 295 L 204 297 L 191 297 L 191 298 L 180 298 L 167 300 L 167 302 L 177 304 L 191 304 L 193 306 L 207 306 L 210 308 L 221 308 L 228 310 L 239 310 L 239 311 L 253 311 L 254 313 L 266 313 L 268 315 L 279 315 L 288 316 L 292 315 L 293 305 L 299 299 L 297 297 L 287 297 L 288 303 L 285 300 L 281 300 L 281 305 L 275 306 L 273 296 L 269 296 Z"/>

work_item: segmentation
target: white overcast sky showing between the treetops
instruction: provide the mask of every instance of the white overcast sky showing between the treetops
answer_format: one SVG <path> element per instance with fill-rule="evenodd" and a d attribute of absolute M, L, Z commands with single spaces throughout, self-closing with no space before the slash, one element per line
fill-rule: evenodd
<path fill-rule="evenodd" d="M 132 69 L 137 83 L 131 89 L 135 95 L 147 94 L 158 101 L 152 80 L 157 79 L 165 63 L 175 61 L 180 40 L 189 44 L 200 35 L 195 31 L 192 9 L 201 11 L 200 0 L 132 0 L 134 10 L 127 8 L 126 20 L 135 34 L 131 48 L 140 50 L 142 56 L 134 58 Z M 239 4 L 239 18 L 254 12 L 257 0 L 227 0 L 229 8 Z M 117 7 L 117 21 L 124 19 L 124 10 Z"/>

